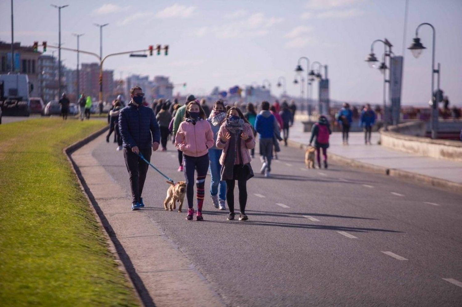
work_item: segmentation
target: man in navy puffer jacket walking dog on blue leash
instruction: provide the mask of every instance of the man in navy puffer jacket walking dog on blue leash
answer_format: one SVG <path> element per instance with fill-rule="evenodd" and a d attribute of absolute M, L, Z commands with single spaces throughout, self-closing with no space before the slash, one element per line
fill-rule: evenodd
<path fill-rule="evenodd" d="M 119 131 L 122 135 L 123 156 L 130 176 L 132 210 L 144 207 L 143 186 L 148 164 L 138 154 L 151 160 L 152 151 L 159 148 L 160 129 L 152 109 L 143 105 L 144 93 L 140 86 L 130 89 L 132 100 L 119 113 Z"/>

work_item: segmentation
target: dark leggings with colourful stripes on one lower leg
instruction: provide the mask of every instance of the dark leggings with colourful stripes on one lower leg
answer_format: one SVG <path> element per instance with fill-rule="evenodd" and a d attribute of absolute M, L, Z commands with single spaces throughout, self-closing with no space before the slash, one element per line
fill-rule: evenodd
<path fill-rule="evenodd" d="M 201 157 L 191 157 L 183 155 L 184 178 L 186 178 L 186 197 L 188 198 L 188 208 L 194 207 L 194 173 L 197 171 L 197 210 L 202 211 L 202 203 L 205 195 L 205 178 L 208 171 L 208 153 Z"/>

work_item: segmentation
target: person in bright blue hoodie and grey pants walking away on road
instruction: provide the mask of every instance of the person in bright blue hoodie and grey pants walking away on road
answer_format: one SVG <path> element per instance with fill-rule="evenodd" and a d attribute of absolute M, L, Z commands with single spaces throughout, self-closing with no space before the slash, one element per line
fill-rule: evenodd
<path fill-rule="evenodd" d="M 261 102 L 261 111 L 255 118 L 255 131 L 260 135 L 258 143 L 260 144 L 260 173 L 265 177 L 270 177 L 271 159 L 273 157 L 273 138 L 274 133 L 279 132 L 279 125 L 276 118 L 269 111 L 269 102 Z M 279 134 L 279 133 L 278 133 Z"/>

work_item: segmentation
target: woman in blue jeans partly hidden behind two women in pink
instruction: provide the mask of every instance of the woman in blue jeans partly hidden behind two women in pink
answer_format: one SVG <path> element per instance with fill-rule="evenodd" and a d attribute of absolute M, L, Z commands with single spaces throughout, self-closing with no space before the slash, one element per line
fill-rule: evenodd
<path fill-rule="evenodd" d="M 225 117 L 225 104 L 221 100 L 215 101 L 213 110 L 207 119 L 212 128 L 214 141 L 213 147 L 208 150 L 208 158 L 210 160 L 209 170 L 212 174 L 212 179 L 210 180 L 210 197 L 212 197 L 213 206 L 220 210 L 226 209 L 226 181 L 220 180 L 221 165 L 219 160 L 223 150 L 218 149 L 215 143 L 217 142 L 218 131 Z"/>

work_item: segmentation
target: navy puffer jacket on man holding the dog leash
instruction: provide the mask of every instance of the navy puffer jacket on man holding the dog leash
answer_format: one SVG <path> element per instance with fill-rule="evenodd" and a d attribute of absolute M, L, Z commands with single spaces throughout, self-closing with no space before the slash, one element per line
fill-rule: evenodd
<path fill-rule="evenodd" d="M 153 142 L 160 143 L 160 129 L 152 109 L 132 102 L 119 113 L 119 131 L 123 147 L 147 149 Z"/>

